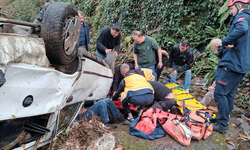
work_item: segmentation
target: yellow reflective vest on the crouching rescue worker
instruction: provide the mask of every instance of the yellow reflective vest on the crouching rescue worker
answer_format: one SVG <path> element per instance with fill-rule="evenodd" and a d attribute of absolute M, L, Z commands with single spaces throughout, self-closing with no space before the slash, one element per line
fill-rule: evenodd
<path fill-rule="evenodd" d="M 124 81 L 125 81 L 125 87 L 124 91 L 121 93 L 121 101 L 127 98 L 128 92 L 132 91 L 135 92 L 143 89 L 145 90 L 150 89 L 154 91 L 151 84 L 148 83 L 147 80 L 139 74 L 133 74 L 128 77 L 125 77 Z"/>

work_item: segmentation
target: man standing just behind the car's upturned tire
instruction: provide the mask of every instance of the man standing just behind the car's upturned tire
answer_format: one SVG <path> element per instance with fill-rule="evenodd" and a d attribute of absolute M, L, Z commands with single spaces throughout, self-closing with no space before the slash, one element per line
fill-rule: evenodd
<path fill-rule="evenodd" d="M 83 12 L 80 10 L 78 10 L 77 12 L 81 23 L 79 48 L 88 51 L 90 48 L 89 25 L 86 21 L 84 21 Z"/>

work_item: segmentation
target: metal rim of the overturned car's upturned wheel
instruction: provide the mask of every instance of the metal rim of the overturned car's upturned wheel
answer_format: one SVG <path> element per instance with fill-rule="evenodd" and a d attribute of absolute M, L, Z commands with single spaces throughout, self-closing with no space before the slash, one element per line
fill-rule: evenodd
<path fill-rule="evenodd" d="M 64 51 L 67 55 L 74 52 L 80 36 L 80 22 L 78 17 L 71 17 L 65 21 Z"/>

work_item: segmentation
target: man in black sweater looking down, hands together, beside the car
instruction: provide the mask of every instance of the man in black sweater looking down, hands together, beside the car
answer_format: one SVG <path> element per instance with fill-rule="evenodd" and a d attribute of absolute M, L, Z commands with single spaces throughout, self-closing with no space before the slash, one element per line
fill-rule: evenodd
<path fill-rule="evenodd" d="M 114 49 L 116 57 L 120 49 L 121 42 L 121 26 L 118 23 L 112 27 L 105 27 L 96 41 L 96 54 L 101 59 L 106 58 L 106 54 Z"/>

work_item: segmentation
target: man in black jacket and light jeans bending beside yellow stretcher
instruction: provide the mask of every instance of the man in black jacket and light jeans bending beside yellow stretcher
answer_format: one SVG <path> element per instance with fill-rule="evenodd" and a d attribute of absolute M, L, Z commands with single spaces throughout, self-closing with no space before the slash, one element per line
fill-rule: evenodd
<path fill-rule="evenodd" d="M 169 54 L 169 71 L 171 72 L 170 83 L 176 82 L 177 73 L 185 71 L 184 89 L 189 92 L 191 86 L 191 68 L 194 63 L 194 55 L 188 40 L 175 44 Z"/>

